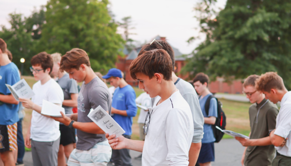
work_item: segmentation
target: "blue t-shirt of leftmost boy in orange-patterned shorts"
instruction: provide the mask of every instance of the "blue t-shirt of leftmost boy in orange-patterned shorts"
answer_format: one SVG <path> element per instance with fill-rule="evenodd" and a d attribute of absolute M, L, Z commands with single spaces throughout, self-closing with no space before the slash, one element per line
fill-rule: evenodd
<path fill-rule="evenodd" d="M 5 84 L 14 85 L 20 81 L 17 66 L 11 62 L 8 65 L 0 67 L 0 93 L 9 95 L 11 92 Z M 0 124 L 10 125 L 19 121 L 18 118 L 19 104 L 7 104 L 0 105 Z"/>

